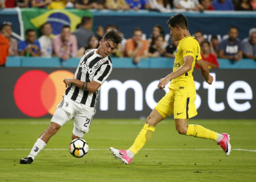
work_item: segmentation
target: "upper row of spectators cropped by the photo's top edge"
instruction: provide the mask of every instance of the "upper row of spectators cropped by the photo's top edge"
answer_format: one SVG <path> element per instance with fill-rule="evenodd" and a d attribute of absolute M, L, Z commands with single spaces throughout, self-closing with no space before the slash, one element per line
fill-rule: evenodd
<path fill-rule="evenodd" d="M 256 10 L 256 0 L 0 0 L 0 8 L 47 8 L 47 9 L 147 9 L 162 13 L 174 9 L 184 11 L 203 10 Z"/>

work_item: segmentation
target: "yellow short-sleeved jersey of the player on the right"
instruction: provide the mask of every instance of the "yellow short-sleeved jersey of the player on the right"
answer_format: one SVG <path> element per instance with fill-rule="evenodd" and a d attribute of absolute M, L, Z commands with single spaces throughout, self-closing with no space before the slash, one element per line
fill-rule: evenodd
<path fill-rule="evenodd" d="M 175 52 L 175 60 L 173 65 L 173 72 L 183 65 L 183 58 L 185 56 L 192 56 L 194 58 L 191 70 L 187 73 L 172 79 L 168 88 L 181 92 L 195 92 L 195 82 L 193 71 L 197 60 L 202 59 L 200 55 L 200 45 L 192 36 L 186 36 L 179 41 L 179 45 Z"/>

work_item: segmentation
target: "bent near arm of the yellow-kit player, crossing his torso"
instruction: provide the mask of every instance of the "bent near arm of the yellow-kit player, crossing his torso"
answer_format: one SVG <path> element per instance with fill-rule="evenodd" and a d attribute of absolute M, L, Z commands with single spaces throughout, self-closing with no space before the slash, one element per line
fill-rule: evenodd
<path fill-rule="evenodd" d="M 163 89 L 165 85 L 167 85 L 172 79 L 177 78 L 191 70 L 193 60 L 194 58 L 192 56 L 185 56 L 183 58 L 184 64 L 171 74 L 167 75 L 165 78 L 160 79 L 157 87 Z"/>

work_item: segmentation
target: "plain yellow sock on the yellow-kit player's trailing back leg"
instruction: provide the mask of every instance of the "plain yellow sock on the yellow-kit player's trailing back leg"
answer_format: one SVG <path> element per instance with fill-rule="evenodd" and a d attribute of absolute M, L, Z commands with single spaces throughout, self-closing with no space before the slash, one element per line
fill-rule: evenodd
<path fill-rule="evenodd" d="M 189 124 L 186 135 L 194 136 L 198 138 L 212 139 L 216 140 L 218 138 L 218 133 L 208 130 L 200 125 Z"/>

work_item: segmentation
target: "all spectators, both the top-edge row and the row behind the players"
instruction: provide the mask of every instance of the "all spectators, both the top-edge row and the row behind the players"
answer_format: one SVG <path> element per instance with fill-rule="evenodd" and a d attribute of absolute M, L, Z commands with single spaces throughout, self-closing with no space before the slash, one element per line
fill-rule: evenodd
<path fill-rule="evenodd" d="M 162 13 L 174 9 L 183 11 L 203 10 L 256 10 L 256 0 L 0 0 L 0 8 L 35 7 L 45 9 L 111 9 L 111 10 L 140 10 L 147 9 Z M 57 56 L 62 61 L 71 57 L 81 57 L 87 49 L 95 49 L 99 41 L 109 29 L 119 31 L 116 25 L 101 26 L 92 31 L 93 20 L 83 17 L 77 29 L 71 32 L 69 25 L 64 25 L 57 35 L 52 34 L 51 24 L 46 22 L 40 27 L 41 36 L 36 39 L 36 31 L 25 30 L 25 40 L 17 41 L 11 36 L 12 23 L 3 22 L 0 41 L 2 50 L 8 48 L 8 56 Z M 249 31 L 248 38 L 239 39 L 237 27 L 230 27 L 227 36 L 205 37 L 203 32 L 196 31 L 193 36 L 201 46 L 201 54 L 209 68 L 218 68 L 217 58 L 239 61 L 242 58 L 256 60 L 256 28 Z M 124 39 L 112 56 L 130 57 L 134 64 L 139 64 L 147 57 L 174 57 L 178 42 L 172 37 L 166 37 L 161 25 L 155 25 L 151 37 L 146 39 L 140 28 L 135 28 L 130 38 Z M 167 33 L 168 35 L 168 33 Z M 7 41 L 6 41 L 7 40 Z M 4 53 L 0 55 L 5 56 Z M 2 59 L 2 58 L 1 58 Z M 4 65 L 6 59 L 0 60 Z"/>

